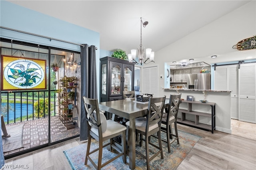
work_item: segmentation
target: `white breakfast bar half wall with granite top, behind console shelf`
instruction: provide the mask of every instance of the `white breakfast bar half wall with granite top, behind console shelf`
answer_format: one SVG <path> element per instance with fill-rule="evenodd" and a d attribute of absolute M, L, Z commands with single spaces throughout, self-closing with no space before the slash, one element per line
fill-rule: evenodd
<path fill-rule="evenodd" d="M 211 130 L 213 127 L 215 130 L 230 133 L 231 134 L 231 113 L 230 113 L 230 100 L 231 91 L 226 90 L 203 90 L 203 89 L 164 89 L 164 95 L 182 93 L 181 98 L 186 100 L 187 96 L 193 97 L 191 102 L 192 111 L 195 113 L 208 113 L 209 115 L 199 115 L 186 113 L 189 112 L 188 102 L 180 103 L 180 111 L 178 113 L 179 121 L 184 124 L 189 124 L 194 127 L 200 127 Z M 204 105 L 200 100 L 207 100 L 209 105 Z M 199 103 L 199 104 L 198 104 Z M 213 108 L 214 107 L 214 108 Z M 214 117 L 212 117 L 212 109 L 214 109 Z M 186 113 L 186 114 L 184 114 Z M 185 119 L 184 119 L 185 115 Z M 183 116 L 183 117 L 182 117 Z M 200 127 L 201 128 L 201 127 Z"/>

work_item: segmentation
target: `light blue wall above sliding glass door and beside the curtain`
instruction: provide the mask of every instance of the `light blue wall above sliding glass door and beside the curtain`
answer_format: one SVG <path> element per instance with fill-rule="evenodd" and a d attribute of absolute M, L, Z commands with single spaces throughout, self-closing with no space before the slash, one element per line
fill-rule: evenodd
<path fill-rule="evenodd" d="M 89 16 L 88 16 L 89 17 Z M 23 32 L 47 36 L 67 42 L 95 45 L 97 75 L 100 68 L 100 34 L 92 30 L 59 20 L 5 0 L 0 0 L 0 26 L 12 28 Z M 80 45 L 74 45 L 38 36 L 28 35 L 11 30 L 0 29 L 0 37 L 23 42 L 48 45 L 62 49 L 80 51 Z M 100 77 L 100 76 L 97 76 Z M 98 78 L 98 85 L 99 85 Z M 99 88 L 99 87 L 98 87 Z"/>

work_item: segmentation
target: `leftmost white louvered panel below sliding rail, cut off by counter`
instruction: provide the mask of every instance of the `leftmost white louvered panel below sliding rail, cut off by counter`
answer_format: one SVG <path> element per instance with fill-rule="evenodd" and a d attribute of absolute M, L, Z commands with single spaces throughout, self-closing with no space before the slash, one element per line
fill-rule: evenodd
<path fill-rule="evenodd" d="M 214 71 L 214 90 L 228 90 L 227 87 L 227 66 L 218 66 Z"/>

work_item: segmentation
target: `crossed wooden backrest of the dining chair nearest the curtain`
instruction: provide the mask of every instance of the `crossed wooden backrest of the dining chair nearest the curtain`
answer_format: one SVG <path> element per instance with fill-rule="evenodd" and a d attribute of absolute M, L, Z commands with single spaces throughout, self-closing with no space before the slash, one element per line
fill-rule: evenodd
<path fill-rule="evenodd" d="M 98 99 L 89 99 L 85 96 L 83 96 L 83 99 L 88 130 L 94 127 L 98 129 L 99 134 L 102 134 Z"/>

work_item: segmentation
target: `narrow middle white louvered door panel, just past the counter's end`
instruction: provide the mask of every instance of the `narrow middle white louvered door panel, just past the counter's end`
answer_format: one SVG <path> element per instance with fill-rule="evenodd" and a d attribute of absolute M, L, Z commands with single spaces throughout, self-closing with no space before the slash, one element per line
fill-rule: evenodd
<path fill-rule="evenodd" d="M 231 90 L 231 119 L 238 119 L 238 65 L 228 66 L 228 90 Z"/>

